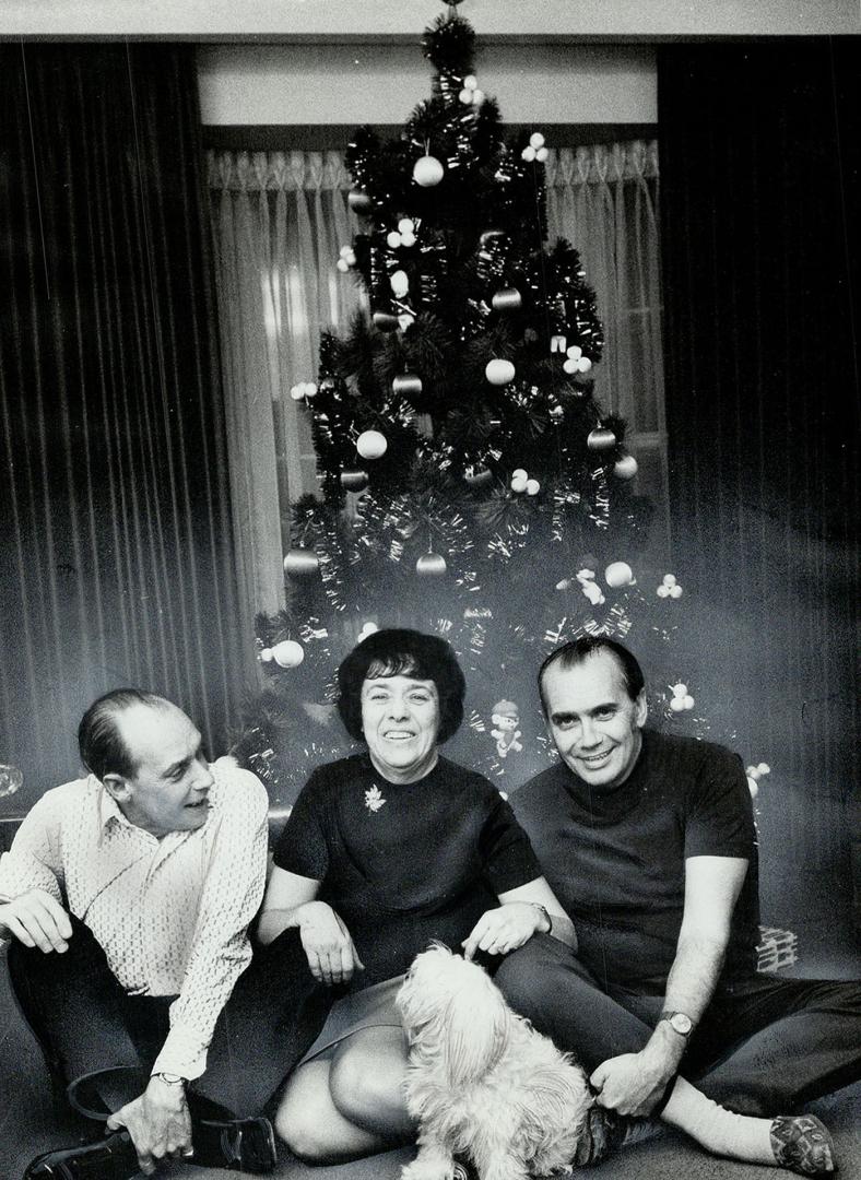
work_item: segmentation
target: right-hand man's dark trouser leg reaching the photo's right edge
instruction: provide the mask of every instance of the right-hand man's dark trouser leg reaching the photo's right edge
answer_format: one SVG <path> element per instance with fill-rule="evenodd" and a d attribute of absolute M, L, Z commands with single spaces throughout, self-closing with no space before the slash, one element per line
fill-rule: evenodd
<path fill-rule="evenodd" d="M 743 1114 L 776 1115 L 861 1077 L 861 984 L 754 975 L 712 999 L 682 1073 Z"/>

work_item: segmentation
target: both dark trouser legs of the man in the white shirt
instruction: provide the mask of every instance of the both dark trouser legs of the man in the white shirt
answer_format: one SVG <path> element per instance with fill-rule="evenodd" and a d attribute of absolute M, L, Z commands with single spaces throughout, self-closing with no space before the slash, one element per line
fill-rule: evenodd
<path fill-rule="evenodd" d="M 63 955 L 11 944 L 12 985 L 54 1076 L 68 1084 L 105 1071 L 87 1093 L 96 1090 L 116 1110 L 146 1084 L 167 1035 L 170 999 L 127 996 L 92 931 L 71 920 Z M 258 949 L 218 1020 L 206 1071 L 190 1088 L 192 1112 L 204 1117 L 259 1114 L 314 1042 L 330 1005 L 329 990 L 308 970 L 298 931 L 284 931 Z"/>

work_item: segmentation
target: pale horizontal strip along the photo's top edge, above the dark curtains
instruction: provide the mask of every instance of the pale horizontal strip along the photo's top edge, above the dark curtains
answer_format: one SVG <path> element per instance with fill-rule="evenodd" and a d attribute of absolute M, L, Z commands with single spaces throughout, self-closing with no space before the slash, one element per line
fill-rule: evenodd
<path fill-rule="evenodd" d="M 1 37 L 415 37 L 441 0 L 4 0 Z M 861 31 L 856 0 L 468 0 L 485 37 L 662 40 Z"/>

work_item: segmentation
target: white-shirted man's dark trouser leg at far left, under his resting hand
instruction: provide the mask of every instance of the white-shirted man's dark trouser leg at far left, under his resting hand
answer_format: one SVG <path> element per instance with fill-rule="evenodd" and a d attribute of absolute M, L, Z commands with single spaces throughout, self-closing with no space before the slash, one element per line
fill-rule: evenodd
<path fill-rule="evenodd" d="M 65 1083 L 96 1069 L 140 1066 L 145 1047 L 134 1032 L 146 1036 L 146 1022 L 132 1017 L 133 1004 L 92 931 L 78 918 L 71 920 L 73 933 L 63 955 L 45 955 L 17 940 L 8 949 L 18 1003 L 52 1075 Z"/>

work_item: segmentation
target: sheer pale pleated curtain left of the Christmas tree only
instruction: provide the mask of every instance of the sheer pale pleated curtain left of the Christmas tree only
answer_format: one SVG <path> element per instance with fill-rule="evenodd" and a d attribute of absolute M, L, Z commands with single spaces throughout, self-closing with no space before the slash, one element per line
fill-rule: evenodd
<path fill-rule="evenodd" d="M 308 412 L 321 332 L 360 291 L 336 269 L 356 218 L 335 152 L 210 152 L 234 532 L 247 617 L 283 605 L 289 505 L 316 489 Z"/>

